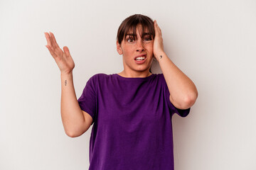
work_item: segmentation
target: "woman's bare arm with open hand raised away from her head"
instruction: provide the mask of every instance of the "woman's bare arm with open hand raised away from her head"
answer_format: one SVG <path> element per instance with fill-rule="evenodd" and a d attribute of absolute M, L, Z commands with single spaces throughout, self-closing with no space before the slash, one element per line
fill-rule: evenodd
<path fill-rule="evenodd" d="M 78 137 L 90 128 L 90 125 L 92 125 L 92 117 L 81 110 L 75 95 L 73 84 L 73 69 L 75 63 L 73 62 L 68 47 L 65 46 L 63 50 L 61 50 L 53 33 L 45 33 L 45 35 L 47 40 L 46 47 L 60 69 L 60 113 L 64 130 L 69 137 Z"/>

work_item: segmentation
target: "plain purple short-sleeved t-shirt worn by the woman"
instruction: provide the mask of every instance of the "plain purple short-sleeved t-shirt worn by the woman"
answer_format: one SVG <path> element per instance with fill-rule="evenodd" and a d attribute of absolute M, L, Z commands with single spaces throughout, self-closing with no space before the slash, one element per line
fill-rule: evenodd
<path fill-rule="evenodd" d="M 126 78 L 95 74 L 78 99 L 92 116 L 89 170 L 174 169 L 170 102 L 163 74 Z"/>

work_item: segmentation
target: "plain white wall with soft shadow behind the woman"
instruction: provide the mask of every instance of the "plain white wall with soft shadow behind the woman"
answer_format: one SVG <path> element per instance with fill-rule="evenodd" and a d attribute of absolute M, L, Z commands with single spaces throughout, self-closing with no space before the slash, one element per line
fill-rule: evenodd
<path fill-rule="evenodd" d="M 80 97 L 92 75 L 122 71 L 117 28 L 134 13 L 158 21 L 198 88 L 190 115 L 173 117 L 176 170 L 256 169 L 254 0 L 0 1 L 0 169 L 88 169 L 92 126 L 65 135 L 44 32 L 70 48 Z"/>

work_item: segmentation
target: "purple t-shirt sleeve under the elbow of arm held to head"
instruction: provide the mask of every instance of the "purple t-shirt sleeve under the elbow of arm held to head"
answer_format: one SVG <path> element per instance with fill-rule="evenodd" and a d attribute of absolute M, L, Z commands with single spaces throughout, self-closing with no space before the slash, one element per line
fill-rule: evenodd
<path fill-rule="evenodd" d="M 164 75 L 163 75 L 163 79 L 164 79 Z M 187 109 L 176 108 L 173 105 L 173 103 L 171 103 L 171 101 L 170 101 L 170 92 L 169 92 L 169 89 L 168 89 L 165 79 L 163 81 L 164 81 L 164 93 L 166 96 L 166 101 L 169 106 L 169 110 L 171 111 L 171 115 L 174 115 L 174 113 L 177 113 L 181 117 L 186 117 L 188 115 L 188 113 L 190 112 L 191 108 L 187 108 Z"/>

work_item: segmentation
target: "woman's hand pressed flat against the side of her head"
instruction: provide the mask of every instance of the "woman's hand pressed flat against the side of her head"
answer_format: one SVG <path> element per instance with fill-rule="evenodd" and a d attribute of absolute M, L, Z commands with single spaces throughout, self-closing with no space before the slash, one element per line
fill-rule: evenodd
<path fill-rule="evenodd" d="M 156 20 L 154 21 L 154 30 L 155 30 L 155 38 L 154 38 L 154 57 L 156 60 L 159 60 L 160 55 L 163 55 L 164 53 L 164 43 L 163 38 L 161 35 L 161 29 L 156 23 Z"/>

